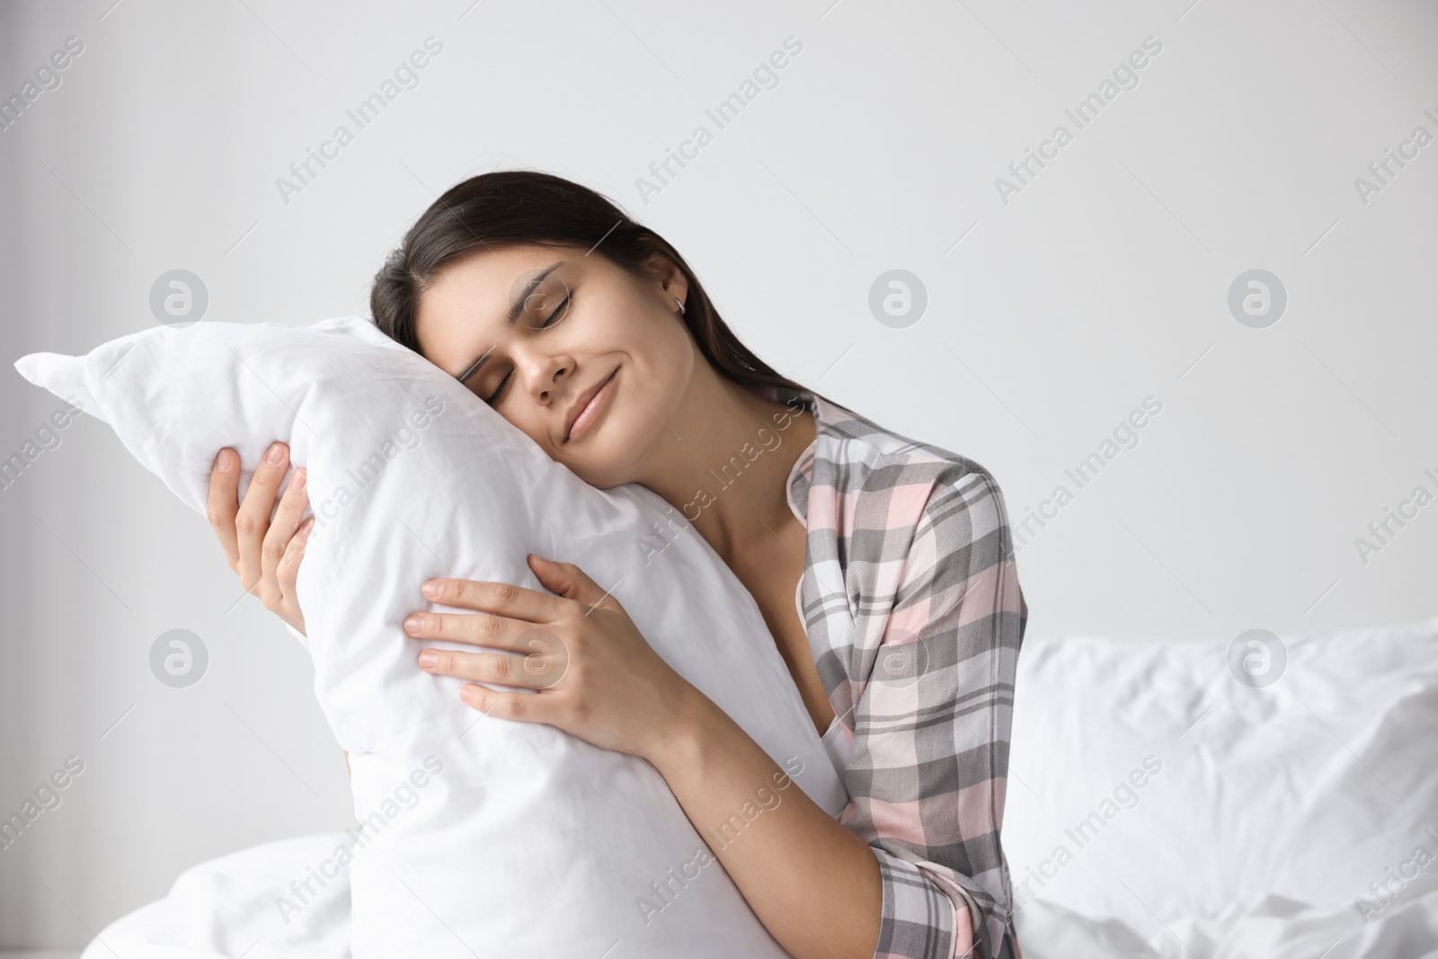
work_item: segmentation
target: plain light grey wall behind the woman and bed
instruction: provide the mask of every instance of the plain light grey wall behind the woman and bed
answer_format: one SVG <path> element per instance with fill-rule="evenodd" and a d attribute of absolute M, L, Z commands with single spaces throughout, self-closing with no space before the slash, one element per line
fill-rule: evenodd
<path fill-rule="evenodd" d="M 1015 525 L 1066 486 L 1020 554 L 1032 635 L 1435 611 L 1438 505 L 1355 546 L 1438 493 L 1438 144 L 1355 184 L 1438 135 L 1431 3 L 7 3 L 0 93 L 72 36 L 0 132 L 0 456 L 59 405 L 9 364 L 150 326 L 164 272 L 203 279 L 209 319 L 357 312 L 436 193 L 526 165 L 659 229 L 781 370 L 986 466 Z M 345 111 L 430 36 L 418 86 L 357 131 Z M 718 128 L 787 37 L 778 85 Z M 1080 129 L 1066 109 L 1146 37 Z M 282 198 L 341 124 L 354 142 Z M 1005 203 L 995 180 L 1057 125 L 1071 142 Z M 926 289 L 906 328 L 869 306 L 890 269 Z M 1252 269 L 1287 292 L 1267 328 L 1228 306 Z M 1080 489 L 1066 470 L 1146 397 L 1162 411 Z M 83 772 L 0 851 L 0 946 L 81 945 L 190 864 L 348 815 L 303 650 L 108 427 L 60 437 L 0 490 L 0 812 L 68 756 Z M 171 628 L 210 653 L 190 689 L 148 667 Z"/>

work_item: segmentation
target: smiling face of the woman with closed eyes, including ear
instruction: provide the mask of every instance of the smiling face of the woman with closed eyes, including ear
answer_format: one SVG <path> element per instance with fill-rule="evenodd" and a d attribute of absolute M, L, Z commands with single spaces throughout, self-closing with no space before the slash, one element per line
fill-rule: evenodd
<path fill-rule="evenodd" d="M 420 295 L 420 352 L 580 479 L 636 479 L 672 437 L 696 347 L 687 283 L 669 260 L 640 280 L 578 247 L 480 250 Z"/>

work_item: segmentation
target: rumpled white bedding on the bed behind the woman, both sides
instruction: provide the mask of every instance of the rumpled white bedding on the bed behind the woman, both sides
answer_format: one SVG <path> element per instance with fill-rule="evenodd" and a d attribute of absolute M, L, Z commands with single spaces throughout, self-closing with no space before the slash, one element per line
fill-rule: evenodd
<path fill-rule="evenodd" d="M 1250 689 L 1227 641 L 1025 640 L 1004 825 L 1024 959 L 1438 956 L 1438 617 L 1283 643 Z M 348 956 L 342 876 L 303 926 L 273 909 L 342 837 L 197 866 L 83 959 Z"/>

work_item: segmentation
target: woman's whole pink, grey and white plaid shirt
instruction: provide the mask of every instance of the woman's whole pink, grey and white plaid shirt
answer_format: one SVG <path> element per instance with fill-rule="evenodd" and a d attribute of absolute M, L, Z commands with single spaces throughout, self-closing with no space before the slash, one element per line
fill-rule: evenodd
<path fill-rule="evenodd" d="M 853 742 L 840 822 L 883 878 L 874 959 L 995 959 L 1012 936 L 999 827 L 1028 620 L 1004 496 L 974 460 L 798 397 L 818 426 L 789 474 L 800 591 Z"/>

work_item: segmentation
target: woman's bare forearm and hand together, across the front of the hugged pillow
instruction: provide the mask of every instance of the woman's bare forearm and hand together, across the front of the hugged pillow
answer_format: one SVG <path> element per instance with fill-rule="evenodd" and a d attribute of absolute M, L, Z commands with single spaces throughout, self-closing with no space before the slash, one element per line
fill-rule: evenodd
<path fill-rule="evenodd" d="M 418 640 L 522 651 L 523 659 L 423 648 L 420 667 L 473 680 L 460 687 L 460 697 L 485 715 L 548 723 L 649 761 L 785 950 L 797 959 L 870 959 L 880 886 L 879 863 L 864 840 L 815 805 L 738 723 L 654 653 L 613 594 L 569 564 L 531 556 L 529 566 L 549 594 L 437 579 L 426 584 L 430 600 L 485 614 L 417 612 L 404 623 Z M 529 686 L 539 694 L 480 683 Z M 705 853 L 697 864 L 712 867 L 713 858 Z M 684 891 L 656 880 L 651 906 L 663 913 L 670 897 Z"/>

